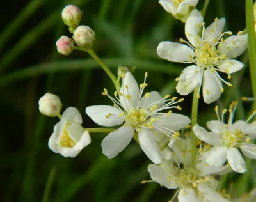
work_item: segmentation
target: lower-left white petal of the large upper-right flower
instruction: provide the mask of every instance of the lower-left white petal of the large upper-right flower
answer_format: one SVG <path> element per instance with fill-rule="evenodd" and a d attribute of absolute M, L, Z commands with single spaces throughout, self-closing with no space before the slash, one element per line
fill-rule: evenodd
<path fill-rule="evenodd" d="M 201 79 L 202 72 L 198 66 L 188 66 L 181 72 L 176 90 L 180 95 L 188 95 L 199 86 Z"/>

